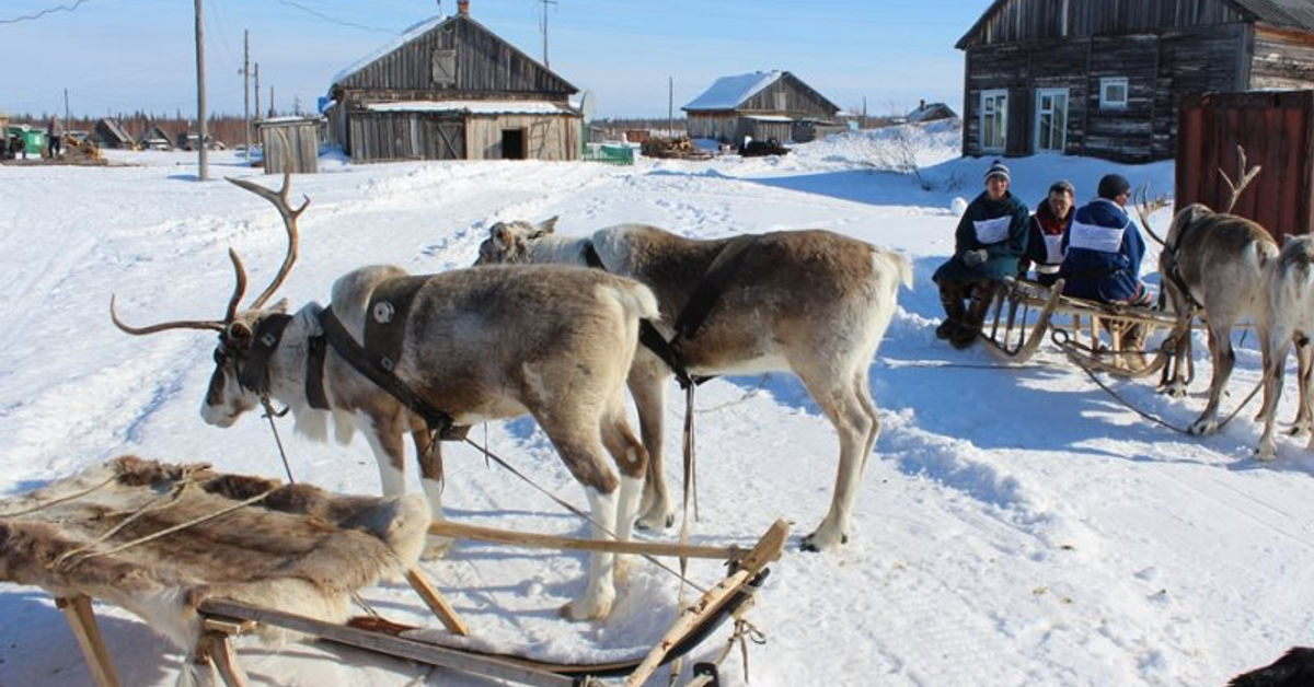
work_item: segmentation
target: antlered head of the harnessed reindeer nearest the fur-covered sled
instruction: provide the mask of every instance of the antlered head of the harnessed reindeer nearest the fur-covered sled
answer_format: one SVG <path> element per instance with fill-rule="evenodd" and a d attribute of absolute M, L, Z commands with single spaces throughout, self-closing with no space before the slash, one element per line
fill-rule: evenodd
<path fill-rule="evenodd" d="M 110 319 L 113 319 L 114 326 L 127 334 L 145 335 L 166 330 L 210 330 L 219 334 L 219 344 L 214 348 L 214 373 L 210 374 L 210 386 L 205 391 L 205 403 L 201 406 L 201 418 L 218 427 L 230 427 L 239 415 L 256 407 L 261 398 L 268 394 L 268 370 L 264 366 L 268 359 L 255 360 L 259 356 L 254 352 L 261 345 L 265 348 L 271 345 L 268 340 L 261 342 L 269 336 L 264 331 L 265 324 L 271 322 L 272 315 L 285 314 L 288 302 L 280 299 L 269 307 L 265 307 L 264 303 L 283 285 L 288 272 L 292 271 L 292 264 L 297 260 L 297 218 L 310 205 L 310 198 L 306 198 L 296 210 L 288 205 L 289 177 L 290 175 L 286 173 L 283 176 L 283 188 L 277 193 L 243 179 L 229 179 L 238 187 L 272 202 L 279 209 L 279 214 L 283 215 L 283 225 L 288 231 L 288 254 L 283 259 L 283 267 L 279 268 L 279 273 L 269 286 L 248 307 L 238 310 L 238 303 L 246 293 L 247 276 L 242 267 L 242 259 L 233 248 L 229 248 L 229 259 L 237 273 L 237 285 L 233 289 L 233 297 L 229 298 L 229 307 L 222 321 L 177 321 L 131 327 L 118 319 L 114 297 L 109 298 Z M 276 342 L 272 345 L 276 345 Z"/>

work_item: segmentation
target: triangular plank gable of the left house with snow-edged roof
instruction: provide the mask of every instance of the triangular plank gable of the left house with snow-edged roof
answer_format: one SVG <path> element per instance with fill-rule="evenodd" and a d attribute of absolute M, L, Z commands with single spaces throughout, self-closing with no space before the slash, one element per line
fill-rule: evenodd
<path fill-rule="evenodd" d="M 465 14 L 411 26 L 334 76 L 331 87 L 562 97 L 578 91 Z"/>

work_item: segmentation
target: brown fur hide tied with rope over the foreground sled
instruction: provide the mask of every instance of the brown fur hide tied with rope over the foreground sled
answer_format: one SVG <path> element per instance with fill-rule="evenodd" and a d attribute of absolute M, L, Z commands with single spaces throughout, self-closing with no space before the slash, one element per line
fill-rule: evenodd
<path fill-rule="evenodd" d="M 208 598 L 344 621 L 351 592 L 417 564 L 428 521 L 418 495 L 346 497 L 121 456 L 0 500 L 0 582 L 121 606 L 188 652 Z"/>

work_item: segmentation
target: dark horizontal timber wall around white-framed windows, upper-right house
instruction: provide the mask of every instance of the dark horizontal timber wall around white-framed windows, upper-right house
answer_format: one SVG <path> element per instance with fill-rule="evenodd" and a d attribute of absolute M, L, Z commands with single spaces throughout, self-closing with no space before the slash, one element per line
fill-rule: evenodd
<path fill-rule="evenodd" d="M 1171 158 L 1177 101 L 1243 88 L 1248 37 L 1248 25 L 1223 24 L 968 47 L 963 154 L 993 154 L 979 144 L 983 91 L 1008 91 L 1004 154 L 1028 155 L 1035 146 L 1035 91 L 1067 88 L 1066 152 L 1126 162 Z M 1101 109 L 1102 78 L 1127 79 L 1126 109 Z"/>

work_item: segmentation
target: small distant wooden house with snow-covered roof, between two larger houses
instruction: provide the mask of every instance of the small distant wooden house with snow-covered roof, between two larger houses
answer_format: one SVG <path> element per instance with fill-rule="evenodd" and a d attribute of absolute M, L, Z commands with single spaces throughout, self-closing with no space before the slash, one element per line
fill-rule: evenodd
<path fill-rule="evenodd" d="M 840 113 L 834 102 L 787 71 L 723 76 L 681 109 L 690 138 L 735 144 L 741 144 L 745 137 L 803 139 L 815 125 L 834 122 Z M 803 130 L 808 134 L 802 134 Z"/>

